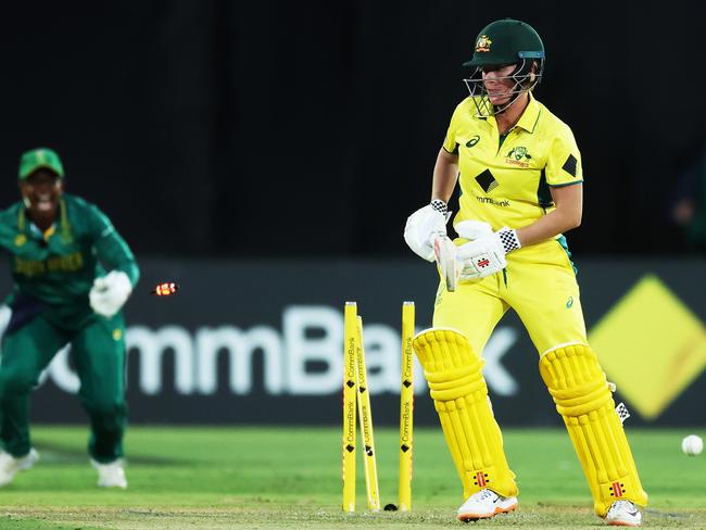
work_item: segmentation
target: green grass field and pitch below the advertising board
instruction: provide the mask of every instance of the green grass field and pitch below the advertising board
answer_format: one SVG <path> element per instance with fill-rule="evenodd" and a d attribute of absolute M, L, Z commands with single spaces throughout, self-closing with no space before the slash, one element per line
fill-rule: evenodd
<path fill-rule="evenodd" d="M 629 430 L 651 495 L 644 526 L 706 528 L 706 456 L 681 453 L 693 430 Z M 706 437 L 706 431 L 697 431 Z M 126 439 L 129 489 L 99 490 L 85 452 L 86 428 L 37 427 L 41 462 L 0 490 L 0 528 L 458 528 L 463 501 L 439 429 L 415 430 L 413 512 L 343 514 L 340 429 L 133 427 Z M 377 429 L 382 503 L 396 504 L 395 429 Z M 474 528 L 602 528 L 563 430 L 506 430 L 520 509 Z"/>

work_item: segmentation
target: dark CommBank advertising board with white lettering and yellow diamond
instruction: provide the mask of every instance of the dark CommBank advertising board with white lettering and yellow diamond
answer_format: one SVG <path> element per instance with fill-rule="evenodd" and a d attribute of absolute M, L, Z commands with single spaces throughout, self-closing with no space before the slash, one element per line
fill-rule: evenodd
<path fill-rule="evenodd" d="M 399 421 L 401 314 L 416 304 L 430 327 L 438 278 L 432 265 L 396 261 L 235 262 L 141 260 L 126 306 L 128 403 L 133 422 L 336 424 L 341 417 L 343 305 L 364 320 L 373 412 Z M 578 263 L 589 339 L 616 402 L 633 425 L 704 425 L 706 276 L 702 262 Z M 10 288 L 3 275 L 3 289 Z M 150 294 L 176 281 L 173 296 Z M 538 352 L 512 313 L 483 357 L 503 425 L 558 425 L 538 370 Z M 33 394 L 36 421 L 84 421 L 70 348 Z M 438 421 L 420 367 L 415 421 Z"/>

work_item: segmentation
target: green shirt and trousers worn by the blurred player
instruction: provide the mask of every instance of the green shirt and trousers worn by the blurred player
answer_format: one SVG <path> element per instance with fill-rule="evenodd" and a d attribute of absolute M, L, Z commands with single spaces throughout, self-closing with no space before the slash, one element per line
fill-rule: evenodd
<path fill-rule="evenodd" d="M 12 318 L 2 339 L 0 441 L 13 456 L 30 449 L 29 392 L 67 343 L 91 421 L 89 452 L 100 462 L 123 455 L 125 342 L 122 312 L 97 315 L 88 293 L 97 277 L 126 273 L 137 282 L 135 257 L 109 218 L 88 202 L 63 194 L 54 225 L 41 232 L 18 202 L 0 212 L 0 248 L 14 279 Z"/>

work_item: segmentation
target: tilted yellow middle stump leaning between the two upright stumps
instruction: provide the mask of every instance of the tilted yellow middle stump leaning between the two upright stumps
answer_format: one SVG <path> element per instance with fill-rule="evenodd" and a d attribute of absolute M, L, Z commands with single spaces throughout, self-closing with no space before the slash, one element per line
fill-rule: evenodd
<path fill-rule="evenodd" d="M 378 488 L 378 466 L 375 456 L 375 437 L 373 436 L 373 411 L 368 389 L 367 367 L 365 365 L 365 342 L 363 341 L 363 319 L 358 316 L 357 353 L 357 405 L 363 440 L 363 463 L 365 469 L 365 489 L 368 495 L 368 509 L 380 509 L 380 490 Z"/>

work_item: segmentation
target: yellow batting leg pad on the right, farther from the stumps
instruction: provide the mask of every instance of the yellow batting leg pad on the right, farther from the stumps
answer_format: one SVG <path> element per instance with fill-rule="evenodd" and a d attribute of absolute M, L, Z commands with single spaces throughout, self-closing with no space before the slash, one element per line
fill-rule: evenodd
<path fill-rule="evenodd" d="M 617 500 L 645 506 L 647 494 L 595 353 L 584 344 L 558 348 L 542 356 L 540 374 L 569 431 L 595 513 L 605 517 Z"/>

